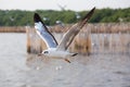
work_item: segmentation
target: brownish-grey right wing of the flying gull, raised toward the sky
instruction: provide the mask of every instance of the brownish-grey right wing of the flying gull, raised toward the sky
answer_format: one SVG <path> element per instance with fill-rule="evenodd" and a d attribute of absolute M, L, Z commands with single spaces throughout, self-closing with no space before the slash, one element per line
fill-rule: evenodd
<path fill-rule="evenodd" d="M 84 24 L 89 21 L 94 12 L 93 8 L 79 23 L 73 25 L 69 30 L 64 35 L 62 41 L 57 46 L 57 50 L 66 50 L 72 44 L 75 36 L 80 32 L 80 29 L 84 26 Z"/>

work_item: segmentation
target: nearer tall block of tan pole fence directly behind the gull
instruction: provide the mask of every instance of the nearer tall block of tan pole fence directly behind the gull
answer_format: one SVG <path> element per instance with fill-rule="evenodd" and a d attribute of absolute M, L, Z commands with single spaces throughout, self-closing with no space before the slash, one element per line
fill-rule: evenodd
<path fill-rule="evenodd" d="M 83 32 L 81 32 L 81 33 L 83 33 Z M 40 39 L 40 37 L 36 34 L 35 28 L 27 28 L 26 34 L 27 34 L 27 52 L 28 53 L 40 53 L 42 50 L 47 49 L 47 46 L 43 42 L 43 40 Z M 57 37 L 56 34 L 53 34 L 53 35 L 57 38 L 62 38 L 63 34 L 61 34 L 61 33 L 57 33 L 57 34 L 60 34 L 61 36 Z M 68 49 L 70 51 L 90 54 L 91 39 L 90 39 L 90 36 L 88 36 L 87 34 L 88 34 L 87 30 L 84 30 L 83 36 L 82 36 L 82 34 L 79 34 L 75 38 L 75 40 L 73 41 L 73 44 L 70 45 L 70 47 Z M 86 35 L 88 37 L 86 37 Z M 57 41 L 60 42 L 60 39 L 57 39 Z"/>

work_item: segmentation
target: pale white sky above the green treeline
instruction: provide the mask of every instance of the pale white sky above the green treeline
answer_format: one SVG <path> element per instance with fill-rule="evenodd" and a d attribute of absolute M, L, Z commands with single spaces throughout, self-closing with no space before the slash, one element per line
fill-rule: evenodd
<path fill-rule="evenodd" d="M 0 0 L 1 10 L 65 10 L 83 11 L 96 9 L 130 8 L 130 0 Z"/>

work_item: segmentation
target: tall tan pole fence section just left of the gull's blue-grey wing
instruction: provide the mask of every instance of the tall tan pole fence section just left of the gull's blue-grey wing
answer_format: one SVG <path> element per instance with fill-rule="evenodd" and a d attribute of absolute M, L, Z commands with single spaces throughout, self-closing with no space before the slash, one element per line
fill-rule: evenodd
<path fill-rule="evenodd" d="M 28 53 L 40 53 L 47 48 L 46 44 L 36 34 L 35 28 L 26 28 L 27 34 L 27 52 Z"/>

